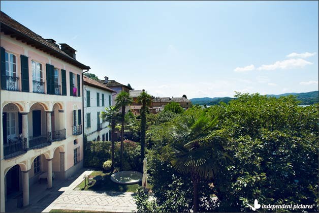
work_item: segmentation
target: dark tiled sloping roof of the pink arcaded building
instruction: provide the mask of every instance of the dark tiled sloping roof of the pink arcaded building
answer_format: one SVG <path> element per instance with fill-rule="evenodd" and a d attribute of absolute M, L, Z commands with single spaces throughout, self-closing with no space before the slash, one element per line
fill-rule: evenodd
<path fill-rule="evenodd" d="M 0 20 L 1 32 L 4 32 L 5 35 L 10 35 L 17 40 L 21 40 L 28 45 L 34 46 L 35 48 L 47 52 L 48 54 L 54 55 L 55 57 L 60 58 L 61 60 L 64 60 L 65 62 L 68 62 L 82 70 L 90 69 L 90 67 L 81 64 L 66 52 L 62 51 L 57 44 L 47 41 L 2 11 Z M 51 41 L 54 40 L 51 39 Z"/>

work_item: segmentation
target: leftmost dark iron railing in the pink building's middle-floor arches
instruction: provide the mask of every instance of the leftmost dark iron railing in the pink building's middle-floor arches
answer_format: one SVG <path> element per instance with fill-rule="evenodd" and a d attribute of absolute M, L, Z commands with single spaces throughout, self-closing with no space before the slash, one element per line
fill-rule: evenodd
<path fill-rule="evenodd" d="M 4 144 L 4 159 L 16 157 L 27 151 L 27 139 L 20 138 L 16 141 Z"/>

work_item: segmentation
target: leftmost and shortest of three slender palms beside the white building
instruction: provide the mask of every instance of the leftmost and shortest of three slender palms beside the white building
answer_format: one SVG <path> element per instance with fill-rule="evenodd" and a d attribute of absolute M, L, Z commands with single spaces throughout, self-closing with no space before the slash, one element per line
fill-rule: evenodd
<path fill-rule="evenodd" d="M 111 126 L 111 143 L 112 143 L 112 170 L 114 169 L 114 132 L 115 132 L 115 125 L 117 121 L 120 120 L 120 113 L 118 111 L 118 107 L 110 106 L 110 108 L 105 108 L 105 111 L 101 112 L 101 118 L 105 121 L 108 121 Z"/>

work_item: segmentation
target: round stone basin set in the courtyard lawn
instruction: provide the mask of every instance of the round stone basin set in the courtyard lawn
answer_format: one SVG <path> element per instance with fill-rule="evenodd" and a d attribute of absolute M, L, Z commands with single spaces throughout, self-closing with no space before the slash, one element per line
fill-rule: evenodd
<path fill-rule="evenodd" d="M 111 175 L 111 180 L 116 184 L 138 184 L 142 181 L 143 174 L 137 171 L 121 171 Z"/>

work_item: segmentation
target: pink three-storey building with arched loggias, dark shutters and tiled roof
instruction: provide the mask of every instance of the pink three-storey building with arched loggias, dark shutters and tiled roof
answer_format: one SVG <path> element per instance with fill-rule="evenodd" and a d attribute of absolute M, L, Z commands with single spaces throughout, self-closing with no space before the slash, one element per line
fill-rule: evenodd
<path fill-rule="evenodd" d="M 68 178 L 83 166 L 82 72 L 67 44 L 43 39 L 1 12 L 1 212 L 40 178 Z"/>

